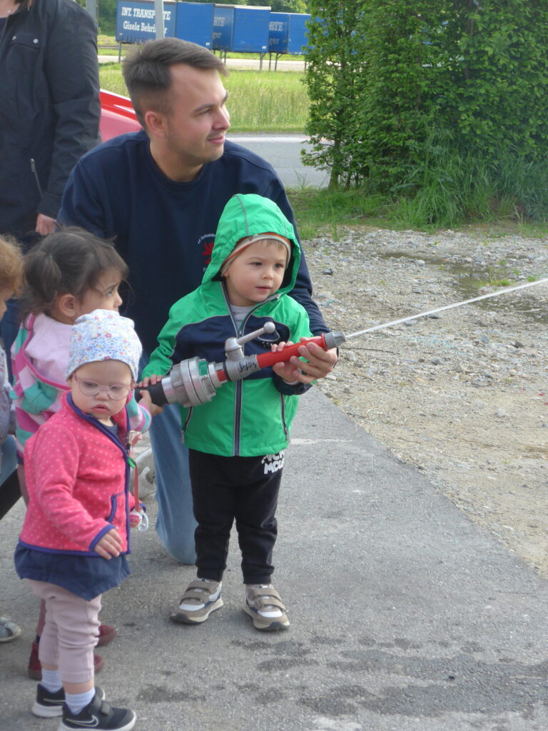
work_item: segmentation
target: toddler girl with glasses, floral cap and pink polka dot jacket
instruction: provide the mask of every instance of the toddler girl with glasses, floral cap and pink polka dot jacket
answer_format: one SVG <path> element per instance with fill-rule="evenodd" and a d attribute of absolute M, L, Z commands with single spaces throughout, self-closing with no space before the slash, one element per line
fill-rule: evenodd
<path fill-rule="evenodd" d="M 62 714 L 60 730 L 126 731 L 135 723 L 133 711 L 112 708 L 94 687 L 94 646 L 101 594 L 129 574 L 126 404 L 140 355 L 132 320 L 110 310 L 79 317 L 66 368 L 69 393 L 26 443 L 29 501 L 15 567 L 46 606 L 33 713 Z M 150 406 L 146 391 L 139 404 L 146 412 L 143 404 Z"/>

